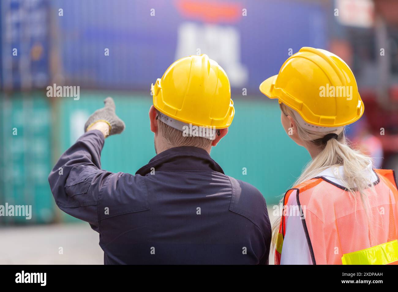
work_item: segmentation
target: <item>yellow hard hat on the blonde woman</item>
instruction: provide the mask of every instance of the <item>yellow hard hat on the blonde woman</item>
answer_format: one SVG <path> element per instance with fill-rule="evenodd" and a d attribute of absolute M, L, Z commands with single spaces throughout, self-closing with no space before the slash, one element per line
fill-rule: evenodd
<path fill-rule="evenodd" d="M 303 47 L 283 63 L 278 75 L 260 85 L 270 99 L 279 99 L 308 124 L 340 127 L 364 111 L 357 82 L 341 58 L 322 49 Z"/>

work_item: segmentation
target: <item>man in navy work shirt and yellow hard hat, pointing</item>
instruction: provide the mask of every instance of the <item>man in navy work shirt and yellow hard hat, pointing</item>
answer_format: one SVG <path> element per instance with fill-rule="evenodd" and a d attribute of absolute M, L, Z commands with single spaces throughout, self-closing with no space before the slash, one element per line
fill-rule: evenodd
<path fill-rule="evenodd" d="M 235 114 L 224 70 L 206 55 L 182 58 L 151 91 L 157 155 L 135 175 L 101 169 L 105 137 L 125 127 L 105 99 L 49 175 L 59 208 L 100 233 L 105 264 L 267 264 L 263 195 L 210 157 Z"/>

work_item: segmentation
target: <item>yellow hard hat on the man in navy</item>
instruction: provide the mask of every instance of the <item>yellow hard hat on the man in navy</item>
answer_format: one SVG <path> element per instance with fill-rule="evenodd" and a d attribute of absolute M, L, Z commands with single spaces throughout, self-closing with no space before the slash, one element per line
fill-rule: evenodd
<path fill-rule="evenodd" d="M 195 126 L 227 128 L 234 118 L 228 77 L 207 55 L 181 58 L 152 84 L 154 107 Z"/>

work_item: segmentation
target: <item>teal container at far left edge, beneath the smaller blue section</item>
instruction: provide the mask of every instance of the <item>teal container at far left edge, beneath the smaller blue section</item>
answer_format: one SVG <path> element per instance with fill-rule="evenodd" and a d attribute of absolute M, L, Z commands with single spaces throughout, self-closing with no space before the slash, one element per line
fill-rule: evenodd
<path fill-rule="evenodd" d="M 0 205 L 31 208 L 31 219 L 2 216 L 0 225 L 52 222 L 55 209 L 47 180 L 51 125 L 45 93 L 0 94 L 0 114 Z"/>

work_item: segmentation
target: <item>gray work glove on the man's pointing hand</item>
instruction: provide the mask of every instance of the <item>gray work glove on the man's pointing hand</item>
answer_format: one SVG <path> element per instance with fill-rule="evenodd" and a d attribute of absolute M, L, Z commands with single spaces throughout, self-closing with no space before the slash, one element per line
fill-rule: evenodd
<path fill-rule="evenodd" d="M 109 136 L 121 133 L 125 128 L 125 124 L 115 113 L 116 106 L 113 98 L 107 97 L 103 103 L 105 106 L 99 110 L 96 110 L 94 114 L 88 118 L 86 124 L 84 125 L 84 132 L 86 132 L 87 128 L 92 126 L 92 124 L 95 122 L 102 121 L 106 122 L 110 126 Z"/>

